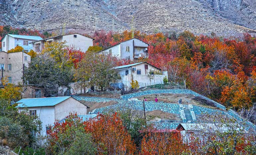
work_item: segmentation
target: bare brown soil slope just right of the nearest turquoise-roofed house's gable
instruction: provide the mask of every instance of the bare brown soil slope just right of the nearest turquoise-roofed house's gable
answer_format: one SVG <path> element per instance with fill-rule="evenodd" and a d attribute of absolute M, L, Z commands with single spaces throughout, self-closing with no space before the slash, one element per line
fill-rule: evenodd
<path fill-rule="evenodd" d="M 91 112 L 94 109 L 117 104 L 117 101 L 108 101 L 108 102 L 91 102 L 91 101 L 84 101 L 81 100 L 81 103 L 85 104 L 89 108 L 87 109 L 87 113 Z"/>

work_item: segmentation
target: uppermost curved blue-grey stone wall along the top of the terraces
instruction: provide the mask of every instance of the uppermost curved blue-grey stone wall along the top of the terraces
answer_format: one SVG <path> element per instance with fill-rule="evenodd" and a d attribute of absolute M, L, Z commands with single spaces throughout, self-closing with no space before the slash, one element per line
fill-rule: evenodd
<path fill-rule="evenodd" d="M 141 92 L 137 92 L 137 93 L 132 93 L 132 94 L 127 94 L 127 95 L 122 95 L 121 99 L 128 99 L 128 98 L 133 98 L 133 97 L 138 97 L 138 96 L 142 96 L 142 95 L 148 95 L 148 94 L 162 94 L 162 93 L 169 93 L 169 94 L 192 94 L 196 97 L 202 97 L 206 100 L 209 100 L 211 102 L 213 102 L 213 104 L 220 108 L 225 110 L 226 107 L 224 105 L 219 104 L 218 102 L 205 97 L 203 95 L 200 95 L 192 90 L 189 89 L 158 89 L 158 90 L 146 90 L 146 91 L 141 91 Z"/>

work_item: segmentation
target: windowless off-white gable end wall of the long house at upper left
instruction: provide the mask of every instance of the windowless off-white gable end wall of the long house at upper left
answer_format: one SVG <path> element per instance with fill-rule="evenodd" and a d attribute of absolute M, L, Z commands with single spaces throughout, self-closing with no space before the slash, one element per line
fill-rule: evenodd
<path fill-rule="evenodd" d="M 74 38 L 74 35 L 76 35 L 76 38 Z M 92 38 L 80 34 L 64 35 L 62 40 L 66 41 L 67 46 L 73 46 L 76 49 L 81 49 L 83 52 L 86 52 L 89 46 L 93 46 Z"/>

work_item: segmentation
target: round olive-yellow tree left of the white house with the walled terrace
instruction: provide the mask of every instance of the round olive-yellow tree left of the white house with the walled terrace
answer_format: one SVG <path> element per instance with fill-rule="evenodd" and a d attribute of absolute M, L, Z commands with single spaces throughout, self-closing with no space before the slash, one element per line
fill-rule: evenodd
<path fill-rule="evenodd" d="M 75 69 L 75 79 L 87 86 L 96 86 L 103 91 L 109 83 L 116 82 L 120 75 L 115 67 L 112 57 L 106 54 L 87 52 Z"/>

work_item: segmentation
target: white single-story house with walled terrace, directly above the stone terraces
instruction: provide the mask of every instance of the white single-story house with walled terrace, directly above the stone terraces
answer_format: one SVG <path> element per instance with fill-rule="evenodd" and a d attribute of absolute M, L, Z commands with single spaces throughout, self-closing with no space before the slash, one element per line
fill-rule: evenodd
<path fill-rule="evenodd" d="M 164 77 L 168 78 L 167 71 L 161 71 L 160 68 L 147 62 L 133 63 L 114 68 L 118 70 L 121 76 L 118 83 L 123 83 L 128 89 L 131 87 L 130 83 L 132 80 L 137 80 L 140 85 L 139 88 L 141 88 L 154 84 L 163 84 Z"/>

